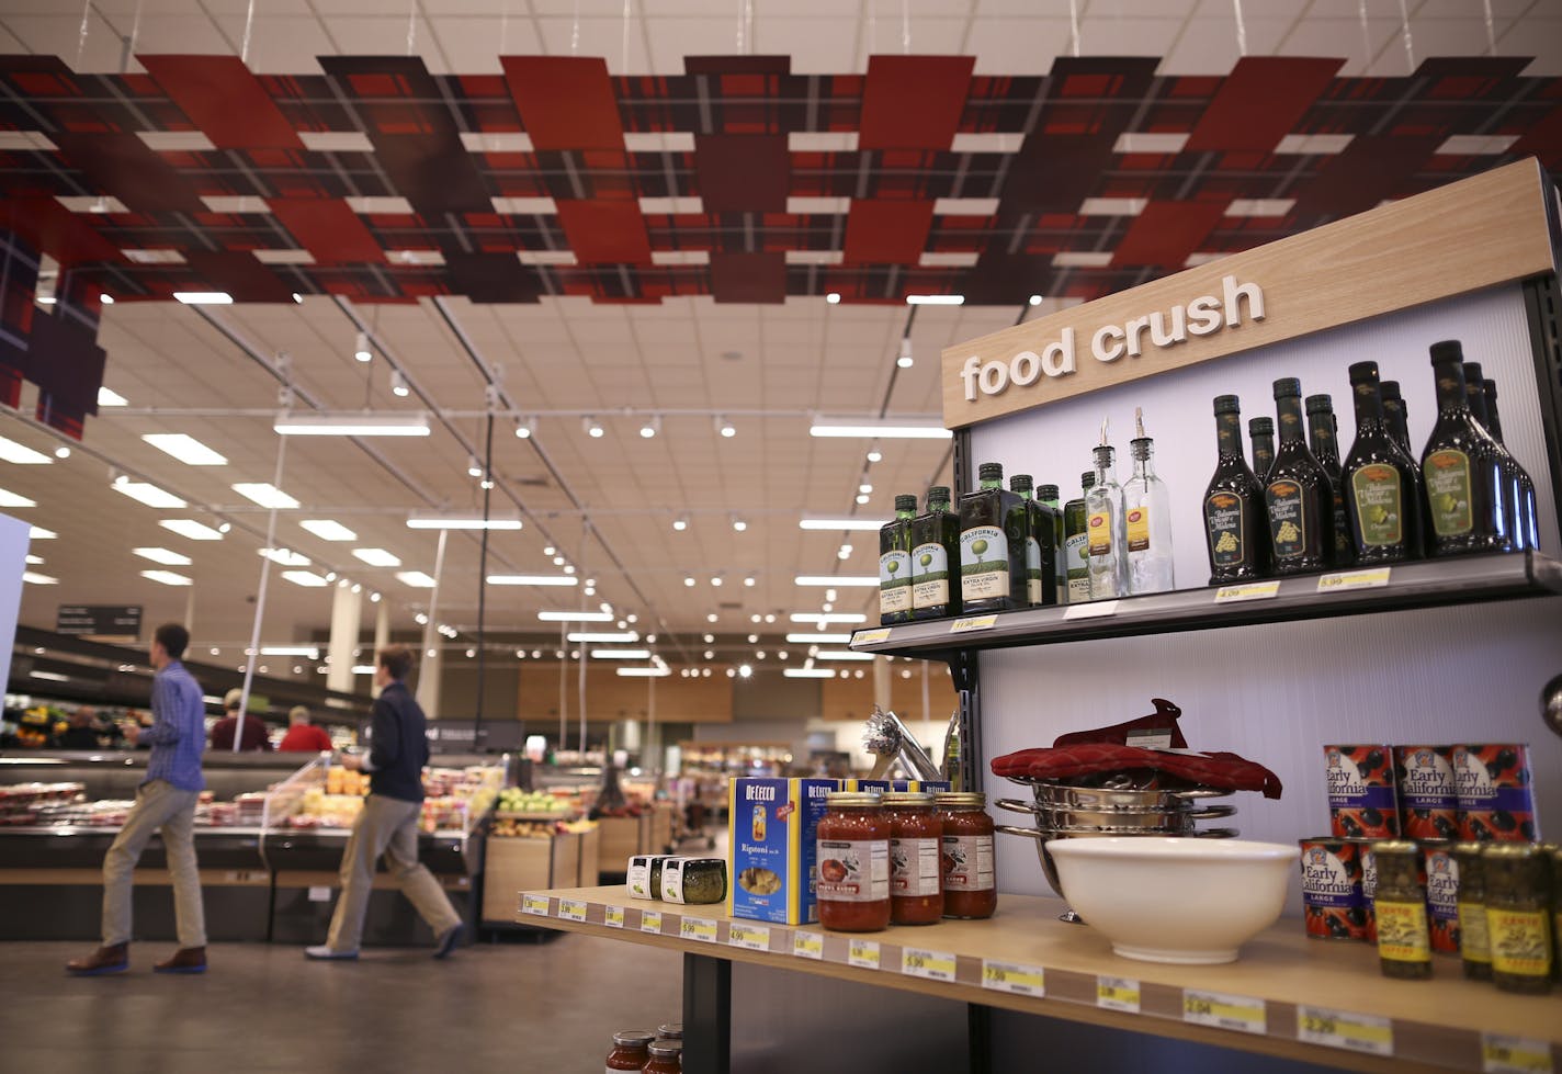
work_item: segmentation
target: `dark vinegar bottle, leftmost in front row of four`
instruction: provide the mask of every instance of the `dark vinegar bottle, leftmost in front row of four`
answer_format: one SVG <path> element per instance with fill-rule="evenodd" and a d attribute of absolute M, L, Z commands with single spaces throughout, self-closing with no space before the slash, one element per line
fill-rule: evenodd
<path fill-rule="evenodd" d="M 1204 489 L 1204 548 L 1209 584 L 1268 578 L 1270 539 L 1264 487 L 1242 454 L 1242 401 L 1215 397 L 1215 476 Z"/>

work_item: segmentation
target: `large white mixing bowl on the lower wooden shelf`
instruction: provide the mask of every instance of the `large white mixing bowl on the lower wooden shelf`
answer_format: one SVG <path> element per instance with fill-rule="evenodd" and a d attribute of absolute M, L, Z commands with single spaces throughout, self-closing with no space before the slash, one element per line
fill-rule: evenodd
<path fill-rule="evenodd" d="M 1282 843 L 1109 837 L 1047 845 L 1068 904 L 1143 962 L 1236 962 L 1286 907 L 1301 851 Z"/>

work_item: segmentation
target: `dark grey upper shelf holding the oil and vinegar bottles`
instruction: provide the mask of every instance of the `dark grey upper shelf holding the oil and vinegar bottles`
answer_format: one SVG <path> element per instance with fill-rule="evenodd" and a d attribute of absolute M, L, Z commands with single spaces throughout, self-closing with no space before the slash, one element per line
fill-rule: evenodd
<path fill-rule="evenodd" d="M 1376 574 L 1387 571 L 1387 579 Z M 1117 601 L 1059 604 L 986 617 L 864 628 L 859 653 L 947 657 L 956 649 L 1056 645 L 1137 634 L 1211 631 L 1254 623 L 1370 615 L 1562 593 L 1562 564 L 1540 553 L 1464 556 L 1329 574 L 1270 579 L 1273 595 L 1187 589 Z"/>

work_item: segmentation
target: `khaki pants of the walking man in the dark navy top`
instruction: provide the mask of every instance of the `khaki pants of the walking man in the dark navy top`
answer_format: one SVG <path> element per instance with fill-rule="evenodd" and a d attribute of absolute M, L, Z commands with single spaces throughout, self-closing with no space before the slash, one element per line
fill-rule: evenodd
<path fill-rule="evenodd" d="M 419 916 L 436 937 L 461 924 L 439 880 L 417 860 L 419 802 L 370 795 L 353 821 L 353 834 L 342 851 L 342 894 L 331 915 L 331 932 L 325 946 L 331 951 L 358 951 L 364 935 L 364 913 L 373 891 L 375 863 L 384 854 L 390 879 L 401 888 Z"/>

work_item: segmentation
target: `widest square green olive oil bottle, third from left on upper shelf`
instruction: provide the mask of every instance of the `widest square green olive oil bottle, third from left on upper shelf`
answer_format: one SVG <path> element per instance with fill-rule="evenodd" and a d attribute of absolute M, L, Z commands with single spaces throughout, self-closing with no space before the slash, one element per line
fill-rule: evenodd
<path fill-rule="evenodd" d="M 1025 607 L 1025 501 L 1003 487 L 1003 464 L 978 468 L 981 485 L 961 496 L 961 612 Z"/>

